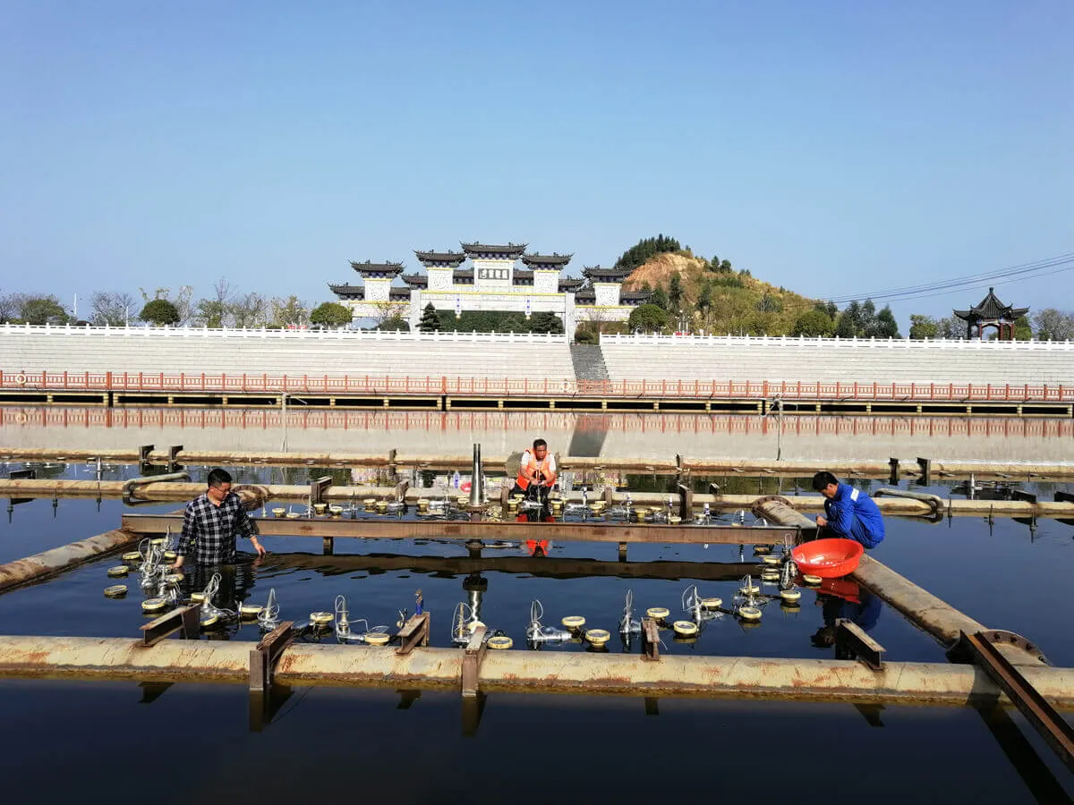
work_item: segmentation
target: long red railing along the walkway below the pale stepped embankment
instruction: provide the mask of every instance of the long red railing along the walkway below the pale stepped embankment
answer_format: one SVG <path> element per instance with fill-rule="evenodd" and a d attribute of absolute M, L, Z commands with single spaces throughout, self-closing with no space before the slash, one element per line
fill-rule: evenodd
<path fill-rule="evenodd" d="M 329 375 L 0 371 L 0 389 L 207 394 L 413 394 L 685 399 L 1074 402 L 1074 386 L 1047 383 L 862 383 L 767 380 L 528 380 Z"/>

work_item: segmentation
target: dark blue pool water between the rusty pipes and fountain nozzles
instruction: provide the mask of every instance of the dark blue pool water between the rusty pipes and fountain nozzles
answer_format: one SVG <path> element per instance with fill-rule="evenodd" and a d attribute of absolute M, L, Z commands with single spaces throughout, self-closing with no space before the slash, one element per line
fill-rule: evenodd
<path fill-rule="evenodd" d="M 121 477 L 131 470 L 115 472 Z M 250 474 L 248 480 L 258 478 L 256 471 Z M 644 488 L 648 483 L 632 485 Z M 949 494 L 945 487 L 934 491 Z M 168 503 L 136 511 L 177 508 Z M 17 504 L 10 522 L 0 519 L 0 561 L 108 530 L 124 511 L 116 500 L 101 501 L 99 510 L 91 499 L 60 500 L 55 509 L 48 499 Z M 889 517 L 887 524 L 888 537 L 873 552 L 876 558 L 986 625 L 1036 641 L 1053 663 L 1074 665 L 1074 629 L 1069 627 L 1074 528 L 1056 521 L 1040 521 L 1032 530 L 1012 519 L 989 526 L 981 517 L 939 524 Z M 319 555 L 319 540 L 265 538 L 264 543 L 270 556 L 243 574 L 237 597 L 262 603 L 275 588 L 287 619 L 331 610 L 335 596 L 343 594 L 352 618 L 393 626 L 397 610 L 412 609 L 420 588 L 434 613 L 433 643 L 445 646 L 451 610 L 467 599 L 466 574 L 437 564 L 465 556 L 459 544 L 338 539 L 336 555 L 326 557 Z M 522 548 L 484 552 L 493 564 L 497 557 L 525 555 Z M 749 546 L 742 555 L 751 559 Z M 417 557 L 410 565 L 419 567 L 407 567 L 404 556 Z M 550 558 L 611 564 L 616 551 L 606 543 L 560 543 Z M 632 545 L 628 558 L 698 562 L 702 568 L 703 562 L 738 561 L 739 548 Z M 144 623 L 137 575 L 108 579 L 105 571 L 115 564 L 115 557 L 105 558 L 0 596 L 0 630 L 135 636 Z M 488 584 L 482 620 L 513 636 L 517 647 L 535 598 L 543 603 L 546 624 L 581 614 L 591 626 L 614 633 L 627 588 L 634 591 L 636 610 L 664 605 L 678 614 L 690 584 L 725 601 L 739 586 L 732 579 L 698 579 L 688 571 L 673 580 L 556 577 L 540 559 L 531 560 L 525 572 L 488 569 L 480 576 Z M 116 581 L 129 585 L 129 595 L 104 598 L 103 588 Z M 797 611 L 773 602 L 753 629 L 725 617 L 709 623 L 695 643 L 676 642 L 667 632 L 665 650 L 830 657 L 831 649 L 817 648 L 811 640 L 831 615 L 833 603 L 827 601 L 825 606 L 815 592 L 804 591 Z M 931 638 L 886 606 L 879 608 L 870 631 L 887 648 L 888 659 L 943 661 Z M 256 627 L 246 626 L 231 639 L 258 636 Z M 612 650 L 626 649 L 613 638 Z M 862 711 L 828 704 L 495 694 L 485 700 L 475 728 L 473 714 L 452 694 L 425 691 L 411 700 L 391 691 L 316 688 L 291 691 L 273 719 L 255 732 L 245 690 L 237 687 L 174 685 L 161 691 L 133 684 L 2 680 L 0 701 L 6 734 L 25 738 L 6 742 L 0 769 L 26 779 L 48 773 L 49 785 L 38 789 L 47 791 L 46 801 L 103 801 L 126 791 L 185 803 L 348 795 L 404 803 L 590 802 L 604 796 L 622 802 L 780 796 L 796 802 L 934 797 L 1019 803 L 1065 802 L 1072 790 L 1071 775 L 1017 714 L 989 716 L 969 708 Z M 110 748 L 102 760 L 91 747 L 104 735 Z M 177 771 L 185 764 L 171 759 L 172 749 L 190 752 L 189 771 Z M 62 775 L 54 774 L 57 763 Z"/>

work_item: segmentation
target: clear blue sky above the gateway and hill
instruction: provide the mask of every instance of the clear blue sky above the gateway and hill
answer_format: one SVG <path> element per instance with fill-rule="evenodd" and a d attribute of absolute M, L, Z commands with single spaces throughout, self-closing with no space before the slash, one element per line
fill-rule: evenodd
<path fill-rule="evenodd" d="M 1072 42 L 1069 0 L 10 0 L 0 290 L 316 303 L 350 259 L 661 232 L 813 296 L 998 269 L 1074 250 Z"/>

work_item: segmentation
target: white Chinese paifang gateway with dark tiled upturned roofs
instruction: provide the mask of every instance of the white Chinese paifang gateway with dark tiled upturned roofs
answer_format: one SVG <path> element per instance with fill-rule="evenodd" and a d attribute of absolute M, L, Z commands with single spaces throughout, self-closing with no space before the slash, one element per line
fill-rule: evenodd
<path fill-rule="evenodd" d="M 415 251 L 424 274 L 404 274 L 398 263 L 358 263 L 351 267 L 362 284 L 329 284 L 354 319 L 395 314 L 417 331 L 422 310 L 461 313 L 488 310 L 524 313 L 552 312 L 574 336 L 579 322 L 626 321 L 649 297 L 647 291 L 624 291 L 626 269 L 585 267 L 584 278 L 561 272 L 570 254 L 527 254 L 526 244 L 462 244 L 462 251 Z M 463 267 L 469 261 L 470 267 Z M 522 262 L 525 267 L 519 267 Z M 406 286 L 394 286 L 396 278 Z"/>

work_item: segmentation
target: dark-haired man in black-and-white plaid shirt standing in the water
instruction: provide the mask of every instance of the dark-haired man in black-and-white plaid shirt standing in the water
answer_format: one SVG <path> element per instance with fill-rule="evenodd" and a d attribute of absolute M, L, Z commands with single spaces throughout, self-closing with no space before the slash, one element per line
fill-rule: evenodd
<path fill-rule="evenodd" d="M 199 566 L 233 564 L 236 533 L 250 538 L 259 557 L 265 555 L 258 542 L 258 527 L 246 514 L 238 495 L 231 491 L 231 474 L 217 468 L 208 473 L 205 494 L 187 503 L 183 536 L 175 551 L 178 558 L 172 567 L 182 568 L 188 556 Z"/>

